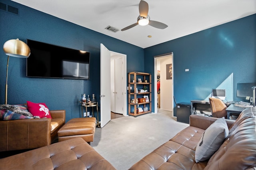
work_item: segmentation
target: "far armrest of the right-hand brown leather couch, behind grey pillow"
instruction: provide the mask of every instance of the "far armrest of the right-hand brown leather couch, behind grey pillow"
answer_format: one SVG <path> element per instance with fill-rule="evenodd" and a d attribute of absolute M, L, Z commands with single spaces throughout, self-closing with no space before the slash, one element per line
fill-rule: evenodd
<path fill-rule="evenodd" d="M 189 119 L 190 126 L 206 130 L 218 118 L 200 115 L 190 115 Z M 234 123 L 234 120 L 225 119 L 225 121 L 228 125 L 228 128 L 230 128 L 230 126 Z"/>

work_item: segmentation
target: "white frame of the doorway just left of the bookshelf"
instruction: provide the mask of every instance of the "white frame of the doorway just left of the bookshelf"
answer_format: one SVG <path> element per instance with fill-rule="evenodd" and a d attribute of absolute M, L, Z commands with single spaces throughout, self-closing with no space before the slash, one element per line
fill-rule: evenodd
<path fill-rule="evenodd" d="M 118 55 L 119 57 L 122 57 L 123 59 L 123 115 L 124 116 L 128 116 L 127 114 L 127 90 L 126 90 L 126 86 L 127 86 L 127 66 L 126 66 L 126 54 L 122 54 L 122 53 L 117 53 L 114 51 L 110 51 L 110 59 L 112 57 L 112 55 Z"/>

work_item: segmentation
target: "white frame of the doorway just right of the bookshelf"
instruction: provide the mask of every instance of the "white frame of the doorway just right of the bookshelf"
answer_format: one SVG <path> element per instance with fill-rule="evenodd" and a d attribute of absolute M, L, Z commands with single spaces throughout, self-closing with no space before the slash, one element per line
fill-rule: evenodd
<path fill-rule="evenodd" d="M 172 70 L 174 70 L 173 52 L 154 56 L 154 108 L 155 108 L 154 113 L 158 112 L 157 111 L 157 93 L 156 93 L 156 90 L 157 90 L 157 59 L 161 58 L 161 57 L 167 57 L 168 55 L 172 55 Z M 172 82 L 174 84 L 173 71 L 172 71 Z M 173 85 L 172 85 L 172 93 L 174 94 Z M 173 102 L 174 101 L 173 101 L 173 98 L 172 98 L 172 116 L 174 115 L 174 103 Z"/>

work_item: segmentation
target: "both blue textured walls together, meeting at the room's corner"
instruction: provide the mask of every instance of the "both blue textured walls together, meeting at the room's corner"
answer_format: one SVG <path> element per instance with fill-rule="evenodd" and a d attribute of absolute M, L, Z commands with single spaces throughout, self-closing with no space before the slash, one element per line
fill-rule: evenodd
<path fill-rule="evenodd" d="M 233 100 L 244 100 L 236 97 L 236 84 L 256 82 L 256 14 L 142 49 L 10 0 L 0 2 L 19 9 L 19 15 L 0 10 L 0 47 L 9 39 L 32 39 L 90 51 L 91 55 L 90 80 L 28 78 L 26 59 L 10 57 L 8 104 L 44 102 L 51 110 L 65 109 L 66 121 L 81 117 L 78 100 L 83 93 L 94 93 L 99 101 L 100 43 L 110 51 L 127 55 L 127 72 L 149 72 L 152 78 L 154 56 L 173 52 L 177 103 L 204 100 L 230 75 Z M 0 104 L 4 104 L 6 63 L 7 55 L 0 49 Z M 186 68 L 189 72 L 185 72 Z M 153 99 L 152 110 L 154 102 Z"/>

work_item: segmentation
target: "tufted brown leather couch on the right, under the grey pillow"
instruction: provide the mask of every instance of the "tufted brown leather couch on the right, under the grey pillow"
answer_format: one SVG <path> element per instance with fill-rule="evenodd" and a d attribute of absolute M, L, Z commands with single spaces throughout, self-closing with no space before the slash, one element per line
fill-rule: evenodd
<path fill-rule="evenodd" d="M 130 170 L 255 170 L 256 107 L 246 108 L 236 121 L 225 119 L 229 135 L 209 160 L 195 161 L 195 150 L 215 117 L 190 115 L 190 126 L 139 160 Z"/>

